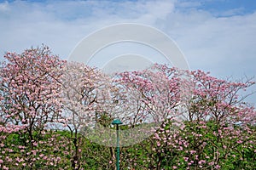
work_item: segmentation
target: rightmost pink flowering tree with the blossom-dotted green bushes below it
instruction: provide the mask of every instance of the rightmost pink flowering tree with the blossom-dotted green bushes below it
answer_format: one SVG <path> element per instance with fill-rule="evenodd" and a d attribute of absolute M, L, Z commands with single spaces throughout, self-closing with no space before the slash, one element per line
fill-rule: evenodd
<path fill-rule="evenodd" d="M 254 168 L 242 162 L 255 158 L 256 113 L 240 94 L 254 82 L 220 80 L 203 71 L 186 74 L 189 97 L 181 101 L 186 121 L 173 131 L 173 122 L 166 120 L 154 134 L 154 150 L 162 156 L 161 162 L 154 163 L 157 169 Z"/>

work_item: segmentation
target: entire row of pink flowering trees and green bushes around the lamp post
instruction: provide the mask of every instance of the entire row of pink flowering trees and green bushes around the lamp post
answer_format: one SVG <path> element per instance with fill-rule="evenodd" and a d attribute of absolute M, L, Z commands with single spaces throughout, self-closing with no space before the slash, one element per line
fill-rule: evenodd
<path fill-rule="evenodd" d="M 250 80 L 167 65 L 109 77 L 46 46 L 4 58 L 0 169 L 114 169 L 107 131 L 117 117 L 130 138 L 121 139 L 121 169 L 256 169 L 256 112 L 240 94 Z M 91 137 L 96 127 L 105 131 Z"/>

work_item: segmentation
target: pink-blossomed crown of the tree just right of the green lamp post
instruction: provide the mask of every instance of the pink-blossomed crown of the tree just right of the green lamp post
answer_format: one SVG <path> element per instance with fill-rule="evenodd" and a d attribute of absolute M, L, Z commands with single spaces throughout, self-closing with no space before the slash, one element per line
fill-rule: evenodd
<path fill-rule="evenodd" d="M 180 105 L 180 72 L 167 70 L 166 65 L 153 65 L 144 71 L 119 73 L 116 82 L 123 88 L 125 105 L 130 107 L 126 118 L 134 127 L 142 122 L 161 122 L 167 117 L 178 116 L 173 112 Z"/>

